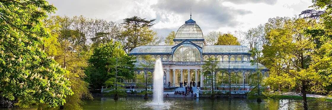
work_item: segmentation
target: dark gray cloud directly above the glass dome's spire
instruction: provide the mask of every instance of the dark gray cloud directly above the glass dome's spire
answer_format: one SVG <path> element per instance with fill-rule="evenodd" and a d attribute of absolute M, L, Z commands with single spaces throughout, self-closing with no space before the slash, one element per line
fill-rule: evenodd
<path fill-rule="evenodd" d="M 222 1 L 181 1 L 178 0 L 161 0 L 152 5 L 154 10 L 164 10 L 168 13 L 182 15 L 185 20 L 189 19 L 190 9 L 192 9 L 193 19 L 202 27 L 218 28 L 220 26 L 235 27 L 240 22 L 236 21 L 239 15 L 252 13 L 251 11 L 234 9 L 221 5 Z"/>

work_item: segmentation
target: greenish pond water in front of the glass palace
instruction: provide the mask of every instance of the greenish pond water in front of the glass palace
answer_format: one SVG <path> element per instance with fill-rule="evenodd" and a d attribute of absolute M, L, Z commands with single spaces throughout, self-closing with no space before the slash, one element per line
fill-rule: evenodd
<path fill-rule="evenodd" d="M 296 104 L 287 104 L 290 99 L 264 99 L 257 103 L 255 99 L 243 98 L 164 98 L 165 105 L 151 105 L 152 97 L 144 100 L 140 96 L 121 97 L 114 101 L 111 96 L 96 96 L 94 100 L 85 101 L 84 110 L 289 110 L 299 109 Z M 299 103 L 297 103 L 299 104 Z M 330 110 L 332 103 L 320 102 L 312 103 L 314 109 Z"/>

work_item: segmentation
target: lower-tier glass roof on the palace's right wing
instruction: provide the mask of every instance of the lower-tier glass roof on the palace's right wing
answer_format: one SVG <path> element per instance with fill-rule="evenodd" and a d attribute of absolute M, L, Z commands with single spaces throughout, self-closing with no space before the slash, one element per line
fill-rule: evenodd
<path fill-rule="evenodd" d="M 244 62 L 220 62 L 218 64 L 219 68 L 225 68 L 225 69 L 256 69 L 257 65 L 251 65 L 251 62 L 244 61 Z M 265 66 L 263 66 L 261 63 L 258 63 L 259 69 L 267 69 Z"/>

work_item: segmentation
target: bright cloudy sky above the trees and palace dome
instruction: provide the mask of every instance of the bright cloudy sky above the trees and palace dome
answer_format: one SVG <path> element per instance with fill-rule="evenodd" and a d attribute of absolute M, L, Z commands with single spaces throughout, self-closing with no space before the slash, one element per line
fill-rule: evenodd
<path fill-rule="evenodd" d="M 152 27 L 158 36 L 166 37 L 190 19 L 203 34 L 246 31 L 264 24 L 269 18 L 295 17 L 312 5 L 311 0 L 48 0 L 55 15 L 101 18 L 121 23 L 138 16 L 156 19 Z"/>

